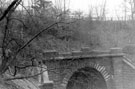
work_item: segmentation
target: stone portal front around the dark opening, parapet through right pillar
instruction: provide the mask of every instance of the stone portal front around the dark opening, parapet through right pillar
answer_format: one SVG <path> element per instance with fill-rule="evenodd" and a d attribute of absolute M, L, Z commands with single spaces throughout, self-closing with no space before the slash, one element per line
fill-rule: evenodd
<path fill-rule="evenodd" d="M 43 62 L 49 70 L 49 79 L 54 82 L 54 89 L 66 89 L 68 80 L 73 73 L 84 67 L 98 70 L 104 77 L 108 89 L 123 89 L 122 83 L 118 83 L 122 82 L 122 72 L 119 71 L 122 70 L 123 54 L 121 49 L 90 51 L 84 48 L 71 53 L 60 54 L 56 51 L 51 53 L 51 57 L 49 57 L 50 52 L 44 53 L 48 58 Z"/>

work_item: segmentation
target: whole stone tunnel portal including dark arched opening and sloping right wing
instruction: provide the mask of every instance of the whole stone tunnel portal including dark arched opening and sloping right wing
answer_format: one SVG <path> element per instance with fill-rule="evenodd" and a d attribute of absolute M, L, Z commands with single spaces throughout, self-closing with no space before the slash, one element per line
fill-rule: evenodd
<path fill-rule="evenodd" d="M 43 55 L 43 63 L 47 66 L 49 80 L 53 81 L 53 89 L 135 88 L 125 85 L 131 81 L 126 79 L 130 72 L 123 71 L 123 65 L 131 71 L 134 71 L 134 65 L 125 58 L 120 48 L 91 51 L 84 47 L 68 53 L 46 51 Z M 134 74 L 131 74 L 132 77 Z M 47 89 L 43 86 L 43 89 Z"/>

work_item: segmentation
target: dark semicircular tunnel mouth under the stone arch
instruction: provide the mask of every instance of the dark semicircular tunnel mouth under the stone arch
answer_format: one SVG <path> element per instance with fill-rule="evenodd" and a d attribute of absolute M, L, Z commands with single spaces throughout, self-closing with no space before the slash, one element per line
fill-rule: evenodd
<path fill-rule="evenodd" d="M 107 85 L 99 71 L 85 67 L 73 73 L 66 89 L 107 89 Z"/>

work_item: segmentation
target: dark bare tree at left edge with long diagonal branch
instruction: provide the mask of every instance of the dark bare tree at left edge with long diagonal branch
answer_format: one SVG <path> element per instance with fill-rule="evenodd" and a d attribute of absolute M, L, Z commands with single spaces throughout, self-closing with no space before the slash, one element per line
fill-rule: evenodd
<path fill-rule="evenodd" d="M 43 33 L 44 31 L 50 29 L 51 27 L 53 27 L 53 26 L 55 26 L 59 23 L 59 22 L 54 22 L 50 26 L 48 26 L 45 29 L 42 29 L 41 31 L 39 31 L 30 40 L 28 40 L 26 43 L 21 44 L 19 46 L 19 44 L 18 44 L 19 40 L 18 41 L 16 39 L 10 39 L 9 40 L 9 32 L 10 32 L 9 26 L 11 24 L 10 22 L 12 21 L 12 19 L 11 19 L 12 13 L 15 11 L 15 9 L 20 4 L 20 2 L 21 2 L 21 0 L 14 0 L 8 6 L 8 8 L 4 11 L 3 15 L 0 17 L 0 21 L 3 21 L 4 19 L 6 19 L 5 29 L 4 29 L 4 37 L 2 39 L 3 40 L 3 42 L 2 42 L 2 63 L 0 65 L 0 74 L 1 75 L 3 73 L 5 73 L 10 66 L 14 66 L 14 70 L 15 70 L 14 75 L 16 75 L 17 68 L 27 68 L 29 66 L 35 66 L 33 64 L 33 60 L 31 60 L 32 63 L 30 65 L 27 65 L 27 66 L 24 66 L 24 67 L 17 66 L 15 63 L 18 61 L 18 59 L 17 59 L 18 54 L 24 48 L 26 48 L 35 38 L 37 38 L 41 33 Z M 17 50 L 11 51 L 11 49 L 9 49 L 9 44 L 12 44 L 12 42 L 15 42 L 18 45 L 19 48 L 17 48 Z"/>

